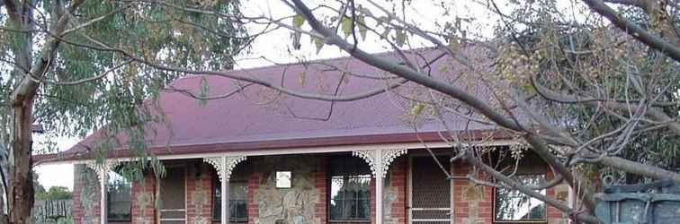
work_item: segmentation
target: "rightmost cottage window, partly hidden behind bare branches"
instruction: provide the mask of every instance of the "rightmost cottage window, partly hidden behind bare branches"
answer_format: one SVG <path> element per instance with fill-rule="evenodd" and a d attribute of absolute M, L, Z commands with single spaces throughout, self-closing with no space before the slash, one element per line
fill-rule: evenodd
<path fill-rule="evenodd" d="M 516 175 L 514 179 L 523 185 L 541 185 L 544 174 Z M 539 191 L 545 195 L 545 189 Z M 516 190 L 496 189 L 494 218 L 498 222 L 546 221 L 545 202 Z"/>

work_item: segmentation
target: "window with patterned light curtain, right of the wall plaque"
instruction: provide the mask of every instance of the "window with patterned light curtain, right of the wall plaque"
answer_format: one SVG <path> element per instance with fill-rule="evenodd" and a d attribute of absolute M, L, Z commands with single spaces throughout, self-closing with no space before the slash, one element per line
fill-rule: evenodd
<path fill-rule="evenodd" d="M 330 159 L 330 220 L 370 220 L 371 171 L 355 157 Z"/>

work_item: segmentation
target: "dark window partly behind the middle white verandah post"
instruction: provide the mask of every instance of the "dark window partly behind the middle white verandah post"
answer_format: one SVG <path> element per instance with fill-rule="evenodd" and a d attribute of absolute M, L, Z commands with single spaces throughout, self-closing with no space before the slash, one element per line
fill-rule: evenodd
<path fill-rule="evenodd" d="M 212 203 L 212 220 L 222 219 L 222 185 L 217 177 L 213 178 L 215 183 L 215 196 Z M 248 221 L 248 185 L 246 181 L 229 182 L 229 222 Z"/>

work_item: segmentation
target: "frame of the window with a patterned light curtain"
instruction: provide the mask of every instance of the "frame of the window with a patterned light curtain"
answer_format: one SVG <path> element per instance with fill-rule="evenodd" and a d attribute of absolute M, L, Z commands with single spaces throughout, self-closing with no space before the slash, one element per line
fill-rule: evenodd
<path fill-rule="evenodd" d="M 333 183 L 332 183 L 332 182 L 333 182 L 333 172 L 332 172 L 333 169 L 332 169 L 331 166 L 333 165 L 333 162 L 328 162 L 328 163 L 327 163 L 327 178 L 326 178 L 326 185 L 327 185 L 327 193 L 326 193 L 327 221 L 328 221 L 328 222 L 341 222 L 341 223 L 346 223 L 346 222 L 354 222 L 354 223 L 370 223 L 370 222 L 371 222 L 371 215 L 372 215 L 372 213 L 371 213 L 371 196 L 372 196 L 372 195 L 371 195 L 371 194 L 372 194 L 372 191 L 371 191 L 371 190 L 372 190 L 372 189 L 371 189 L 371 182 L 373 181 L 373 176 L 371 175 L 371 168 L 370 168 L 369 165 L 368 165 L 365 161 L 363 161 L 361 158 L 357 158 L 357 157 L 353 157 L 353 156 L 345 156 L 345 155 L 343 155 L 343 156 L 331 156 L 331 157 L 328 157 L 328 160 L 329 160 L 329 161 L 331 161 L 331 160 L 337 160 L 337 159 L 343 159 L 343 160 L 345 160 L 345 159 L 353 159 L 353 160 L 356 161 L 358 164 L 363 164 L 363 166 L 366 166 L 366 169 L 367 169 L 367 173 L 366 173 L 366 174 L 357 174 L 357 175 L 346 175 L 346 174 L 345 174 L 345 175 L 343 175 L 342 177 L 343 177 L 343 181 L 347 181 L 347 180 L 352 179 L 352 178 L 362 178 L 361 176 L 364 176 L 364 175 L 365 175 L 365 176 L 368 176 L 368 179 L 369 179 L 369 189 L 368 189 L 368 197 L 367 197 L 365 200 L 368 202 L 368 206 L 369 206 L 369 211 L 368 211 L 368 212 L 369 212 L 369 213 L 368 213 L 368 216 L 367 216 L 366 219 L 334 220 L 333 217 L 331 217 L 331 202 L 334 201 L 334 200 L 331 198 L 331 197 L 332 197 L 332 196 L 331 196 L 331 191 L 332 191 L 332 188 L 333 188 Z M 346 165 L 345 162 L 344 162 L 343 164 Z M 359 200 L 361 200 L 361 199 L 358 199 L 358 198 L 357 198 L 357 199 L 355 199 L 355 200 L 356 200 L 356 201 L 359 201 Z M 343 201 L 345 201 L 345 200 L 343 199 Z"/>

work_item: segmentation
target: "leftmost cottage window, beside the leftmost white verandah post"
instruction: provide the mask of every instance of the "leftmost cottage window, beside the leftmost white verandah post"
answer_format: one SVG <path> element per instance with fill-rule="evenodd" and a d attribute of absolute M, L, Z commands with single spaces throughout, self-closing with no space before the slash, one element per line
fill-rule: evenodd
<path fill-rule="evenodd" d="M 132 184 L 121 174 L 110 171 L 106 188 L 106 219 L 109 221 L 130 221 L 130 194 Z"/>

